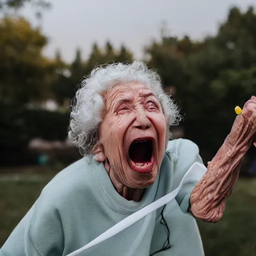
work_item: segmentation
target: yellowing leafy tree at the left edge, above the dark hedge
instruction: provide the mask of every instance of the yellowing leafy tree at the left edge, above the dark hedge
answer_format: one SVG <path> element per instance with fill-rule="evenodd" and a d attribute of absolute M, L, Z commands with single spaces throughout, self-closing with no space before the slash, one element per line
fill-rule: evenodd
<path fill-rule="evenodd" d="M 0 99 L 24 104 L 45 99 L 53 62 L 42 56 L 47 39 L 24 18 L 0 20 Z"/>

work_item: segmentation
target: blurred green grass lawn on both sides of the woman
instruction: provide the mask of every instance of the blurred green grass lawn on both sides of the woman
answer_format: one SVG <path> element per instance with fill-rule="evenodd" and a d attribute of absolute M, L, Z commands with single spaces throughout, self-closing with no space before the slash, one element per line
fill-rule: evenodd
<path fill-rule="evenodd" d="M 28 172 L 29 173 L 29 172 Z M 0 175 L 0 246 L 38 197 L 55 171 L 30 181 L 26 172 Z M 31 173 L 29 173 L 31 177 Z M 224 217 L 218 223 L 198 221 L 206 256 L 256 255 L 256 179 L 239 179 L 228 199 Z"/>

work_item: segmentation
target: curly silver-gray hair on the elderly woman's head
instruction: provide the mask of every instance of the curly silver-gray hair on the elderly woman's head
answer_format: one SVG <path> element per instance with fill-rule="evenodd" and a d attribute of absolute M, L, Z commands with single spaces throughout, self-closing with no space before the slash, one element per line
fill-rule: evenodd
<path fill-rule="evenodd" d="M 168 94 L 158 72 L 149 69 L 144 62 L 110 63 L 95 67 L 88 77 L 78 83 L 78 90 L 70 105 L 68 136 L 78 147 L 81 155 L 92 155 L 97 143 L 97 128 L 102 121 L 104 100 L 102 94 L 113 85 L 138 82 L 152 89 L 166 118 L 166 125 L 177 125 L 181 120 L 179 109 Z M 170 133 L 167 134 L 168 138 Z"/>

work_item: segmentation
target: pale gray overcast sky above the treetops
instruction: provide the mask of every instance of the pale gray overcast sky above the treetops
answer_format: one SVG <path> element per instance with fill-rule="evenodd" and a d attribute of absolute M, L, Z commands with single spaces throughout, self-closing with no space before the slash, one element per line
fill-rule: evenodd
<path fill-rule="evenodd" d="M 214 34 L 232 5 L 245 10 L 256 0 L 49 0 L 52 8 L 43 13 L 42 30 L 49 43 L 45 55 L 54 56 L 59 48 L 62 57 L 71 61 L 80 47 L 83 58 L 91 44 L 103 46 L 109 39 L 115 47 L 123 42 L 136 58 L 143 46 L 159 38 L 162 20 L 171 34 L 188 34 L 193 39 Z M 31 7 L 22 14 L 38 24 Z"/>

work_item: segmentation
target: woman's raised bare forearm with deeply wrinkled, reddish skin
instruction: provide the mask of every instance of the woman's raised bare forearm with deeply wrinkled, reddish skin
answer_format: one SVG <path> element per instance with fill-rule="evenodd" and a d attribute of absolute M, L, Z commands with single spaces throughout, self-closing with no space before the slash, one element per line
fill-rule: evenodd
<path fill-rule="evenodd" d="M 252 96 L 237 115 L 230 133 L 207 171 L 190 195 L 190 211 L 207 222 L 217 222 L 223 215 L 227 197 L 237 181 L 242 159 L 256 141 L 256 97 Z"/>

